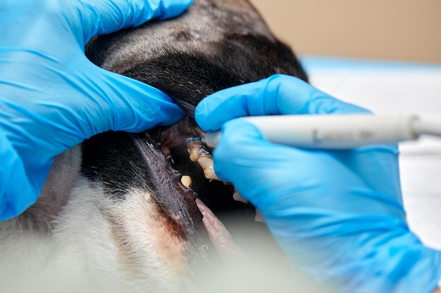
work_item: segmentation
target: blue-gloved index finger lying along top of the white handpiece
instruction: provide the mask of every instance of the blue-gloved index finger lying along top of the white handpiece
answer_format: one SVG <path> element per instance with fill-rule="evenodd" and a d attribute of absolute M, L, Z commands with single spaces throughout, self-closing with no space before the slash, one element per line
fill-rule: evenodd
<path fill-rule="evenodd" d="M 337 100 L 297 77 L 275 74 L 213 93 L 197 105 L 195 117 L 199 126 L 208 131 L 220 129 L 232 118 L 250 115 L 350 112 L 367 110 Z"/>

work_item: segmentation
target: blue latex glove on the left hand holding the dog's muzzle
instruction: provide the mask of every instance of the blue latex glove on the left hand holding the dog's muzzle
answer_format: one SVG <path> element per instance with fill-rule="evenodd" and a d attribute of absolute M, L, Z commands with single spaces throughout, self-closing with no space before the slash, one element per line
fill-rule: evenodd
<path fill-rule="evenodd" d="M 102 70 L 87 41 L 191 0 L 0 0 L 0 219 L 37 200 L 54 156 L 108 130 L 140 132 L 183 112 L 161 91 Z"/>

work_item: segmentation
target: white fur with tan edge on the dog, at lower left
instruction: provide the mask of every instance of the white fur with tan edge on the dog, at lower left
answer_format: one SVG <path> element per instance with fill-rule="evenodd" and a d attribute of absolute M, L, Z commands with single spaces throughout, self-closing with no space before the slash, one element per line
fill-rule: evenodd
<path fill-rule="evenodd" d="M 53 229 L 1 235 L 1 292 L 175 291 L 187 269 L 182 243 L 156 217 L 148 193 L 115 204 L 80 178 Z"/>

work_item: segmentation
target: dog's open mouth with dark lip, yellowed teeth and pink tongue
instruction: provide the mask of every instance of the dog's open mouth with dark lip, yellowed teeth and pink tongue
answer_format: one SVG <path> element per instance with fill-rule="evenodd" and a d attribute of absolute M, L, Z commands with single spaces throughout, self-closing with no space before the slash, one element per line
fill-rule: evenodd
<path fill-rule="evenodd" d="M 242 212 L 251 215 L 254 208 L 240 202 L 232 185 L 219 181 L 213 171 L 211 150 L 200 143 L 185 142 L 188 137 L 203 134 L 186 117 L 173 126 L 137 134 L 135 144 L 144 152 L 142 156 L 148 164 L 157 166 L 151 173 L 156 176 L 154 185 L 161 195 L 159 205 L 170 218 L 177 220 L 175 226 L 182 230 L 182 237 L 191 247 L 191 252 L 187 251 L 190 257 L 196 256 L 200 261 L 206 257 L 203 250 L 213 247 L 223 261 L 231 263 L 243 252 L 218 214 L 231 219 L 235 213 L 239 217 L 243 216 Z"/>

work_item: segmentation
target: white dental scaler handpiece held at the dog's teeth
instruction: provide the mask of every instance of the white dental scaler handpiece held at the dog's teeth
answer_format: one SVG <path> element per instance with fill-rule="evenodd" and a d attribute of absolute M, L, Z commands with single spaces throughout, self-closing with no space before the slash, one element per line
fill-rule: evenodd
<path fill-rule="evenodd" d="M 242 117 L 268 141 L 297 148 L 350 149 L 414 140 L 421 134 L 441 136 L 441 124 L 421 122 L 416 115 L 273 115 Z M 221 131 L 202 141 L 215 148 Z M 188 141 L 188 140 L 187 140 Z"/>

